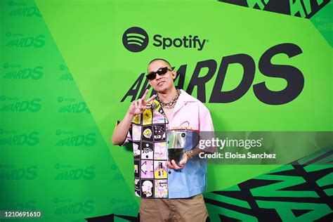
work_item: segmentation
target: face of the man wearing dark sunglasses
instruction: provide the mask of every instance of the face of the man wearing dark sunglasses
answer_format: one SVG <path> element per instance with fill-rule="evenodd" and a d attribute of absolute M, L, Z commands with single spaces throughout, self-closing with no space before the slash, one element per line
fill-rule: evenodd
<path fill-rule="evenodd" d="M 163 60 L 156 60 L 148 66 L 148 73 L 156 72 L 157 70 L 168 67 L 171 70 L 171 67 Z M 156 79 L 152 79 L 149 81 L 150 86 L 152 89 L 157 91 L 158 93 L 163 93 L 174 86 L 174 79 L 176 78 L 176 71 L 167 71 L 166 74 L 160 76 L 156 74 Z"/>

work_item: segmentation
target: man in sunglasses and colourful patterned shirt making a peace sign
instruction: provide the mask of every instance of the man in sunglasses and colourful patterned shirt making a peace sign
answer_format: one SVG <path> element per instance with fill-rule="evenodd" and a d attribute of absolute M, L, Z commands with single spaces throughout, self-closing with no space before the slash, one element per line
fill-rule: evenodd
<path fill-rule="evenodd" d="M 129 106 L 113 135 L 114 145 L 133 143 L 135 193 L 142 197 L 141 221 L 206 221 L 202 192 L 207 188 L 207 163 L 200 152 L 216 148 L 190 148 L 176 163 L 168 160 L 168 133 L 214 131 L 211 115 L 200 100 L 176 89 L 176 71 L 164 59 L 148 65 L 150 86 Z"/>

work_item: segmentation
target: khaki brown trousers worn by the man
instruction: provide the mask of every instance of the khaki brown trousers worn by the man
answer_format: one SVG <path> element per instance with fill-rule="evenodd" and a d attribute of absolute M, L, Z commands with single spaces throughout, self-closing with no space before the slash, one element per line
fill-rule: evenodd
<path fill-rule="evenodd" d="M 181 199 L 141 199 L 140 221 L 202 222 L 208 216 L 202 194 Z"/>

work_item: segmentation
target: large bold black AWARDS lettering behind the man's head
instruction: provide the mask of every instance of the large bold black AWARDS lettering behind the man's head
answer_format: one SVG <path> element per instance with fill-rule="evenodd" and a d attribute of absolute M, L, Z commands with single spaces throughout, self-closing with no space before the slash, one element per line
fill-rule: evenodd
<path fill-rule="evenodd" d="M 254 58 L 252 58 L 252 56 L 245 53 L 224 56 L 221 59 L 219 67 L 218 63 L 214 59 L 203 60 L 197 62 L 195 65 L 195 70 L 192 73 L 192 77 L 185 91 L 192 94 L 192 92 L 197 89 L 197 99 L 201 100 L 202 103 L 206 103 L 206 84 L 207 82 L 213 80 L 213 77 L 216 76 L 213 89 L 209 96 L 209 103 L 233 103 L 242 98 L 242 96 L 249 91 L 251 86 L 254 91 L 254 96 L 256 96 L 256 98 L 262 103 L 266 103 L 268 105 L 282 105 L 290 103 L 300 95 L 301 91 L 303 91 L 305 81 L 303 73 L 301 70 L 292 65 L 273 64 L 271 60 L 278 54 L 285 54 L 291 59 L 301 53 L 303 53 L 301 48 L 292 43 L 278 44 L 268 48 L 268 50 L 263 52 L 259 58 L 259 71 L 265 77 L 268 77 L 265 81 L 261 82 L 254 82 L 256 63 L 254 62 Z M 242 80 L 235 89 L 222 91 L 228 67 L 233 65 L 242 66 Z M 183 81 L 183 79 L 185 79 L 186 70 L 187 65 L 181 65 L 177 70 L 176 78 L 180 79 L 176 87 L 179 89 L 185 89 L 185 81 Z M 270 81 L 270 78 L 284 79 L 287 81 L 287 86 L 281 86 L 281 89 L 278 91 L 270 90 L 266 84 L 266 82 Z M 127 91 L 121 102 L 123 102 L 128 96 L 131 97 L 132 101 L 138 99 L 138 95 L 145 91 L 145 89 L 141 89 L 140 87 L 142 82 L 143 74 L 138 77 L 135 84 L 133 84 L 131 89 Z M 140 92 L 139 89 L 141 89 Z"/>

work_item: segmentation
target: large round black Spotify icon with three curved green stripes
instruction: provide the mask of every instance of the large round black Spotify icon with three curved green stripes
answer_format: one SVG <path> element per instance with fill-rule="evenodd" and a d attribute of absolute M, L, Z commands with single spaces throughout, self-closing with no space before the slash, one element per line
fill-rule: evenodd
<path fill-rule="evenodd" d="M 148 46 L 148 34 L 141 27 L 130 27 L 122 36 L 122 43 L 127 50 L 138 53 Z"/>

